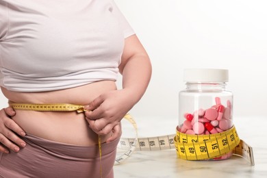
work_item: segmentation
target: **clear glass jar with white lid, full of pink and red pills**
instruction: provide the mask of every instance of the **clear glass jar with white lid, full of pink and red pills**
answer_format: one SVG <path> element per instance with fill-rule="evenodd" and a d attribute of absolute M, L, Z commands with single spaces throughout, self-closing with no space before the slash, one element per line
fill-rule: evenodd
<path fill-rule="evenodd" d="M 226 90 L 225 69 L 190 68 L 184 71 L 186 89 L 179 92 L 178 131 L 207 135 L 227 131 L 233 126 L 233 94 Z M 213 160 L 231 157 L 227 153 Z"/>

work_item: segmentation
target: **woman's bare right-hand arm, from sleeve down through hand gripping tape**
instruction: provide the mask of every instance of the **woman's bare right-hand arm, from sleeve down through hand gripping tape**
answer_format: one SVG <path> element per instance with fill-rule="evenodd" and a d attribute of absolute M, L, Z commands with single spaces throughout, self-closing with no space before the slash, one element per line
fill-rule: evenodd
<path fill-rule="evenodd" d="M 123 75 L 123 89 L 101 94 L 86 106 L 90 128 L 99 135 L 110 133 L 120 120 L 140 101 L 151 79 L 149 55 L 136 35 L 125 39 L 119 71 Z"/>

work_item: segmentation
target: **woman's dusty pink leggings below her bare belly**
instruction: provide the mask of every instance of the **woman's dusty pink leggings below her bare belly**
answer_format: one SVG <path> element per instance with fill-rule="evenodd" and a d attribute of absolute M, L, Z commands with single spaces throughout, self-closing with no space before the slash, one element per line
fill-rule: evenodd
<path fill-rule="evenodd" d="M 27 146 L 18 153 L 0 153 L 0 177 L 100 177 L 98 145 L 81 147 L 32 135 L 23 139 Z M 105 178 L 114 177 L 113 165 L 118 141 L 119 138 L 101 144 L 102 174 Z"/>

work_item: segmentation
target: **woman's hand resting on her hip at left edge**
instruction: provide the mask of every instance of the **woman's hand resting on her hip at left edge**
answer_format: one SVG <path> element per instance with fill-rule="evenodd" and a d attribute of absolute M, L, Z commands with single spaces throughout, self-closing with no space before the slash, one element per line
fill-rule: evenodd
<path fill-rule="evenodd" d="M 9 150 L 18 152 L 26 143 L 19 136 L 25 136 L 25 131 L 10 117 L 14 116 L 12 107 L 0 110 L 0 152 L 9 153 Z"/>

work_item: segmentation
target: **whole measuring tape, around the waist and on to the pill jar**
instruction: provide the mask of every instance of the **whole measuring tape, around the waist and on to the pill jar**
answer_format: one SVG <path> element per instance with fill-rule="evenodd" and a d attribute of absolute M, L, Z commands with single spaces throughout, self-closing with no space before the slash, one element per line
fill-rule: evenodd
<path fill-rule="evenodd" d="M 16 110 L 34 111 L 76 111 L 84 112 L 83 105 L 68 103 L 52 104 L 27 104 L 9 103 Z M 118 149 L 123 153 L 116 155 L 115 165 L 120 164 L 131 156 L 134 151 L 157 151 L 164 149 L 176 149 L 177 157 L 183 160 L 209 160 L 220 157 L 225 153 L 233 151 L 234 155 L 244 157 L 251 165 L 254 165 L 252 148 L 243 140 L 240 140 L 236 133 L 236 128 L 232 127 L 228 131 L 209 135 L 188 135 L 177 131 L 176 135 L 157 136 L 149 138 L 138 138 L 136 121 L 130 114 L 125 115 L 126 120 L 135 129 L 135 138 L 120 138 Z M 100 140 L 100 139 L 99 139 Z M 101 146 L 99 144 L 101 153 Z"/>

